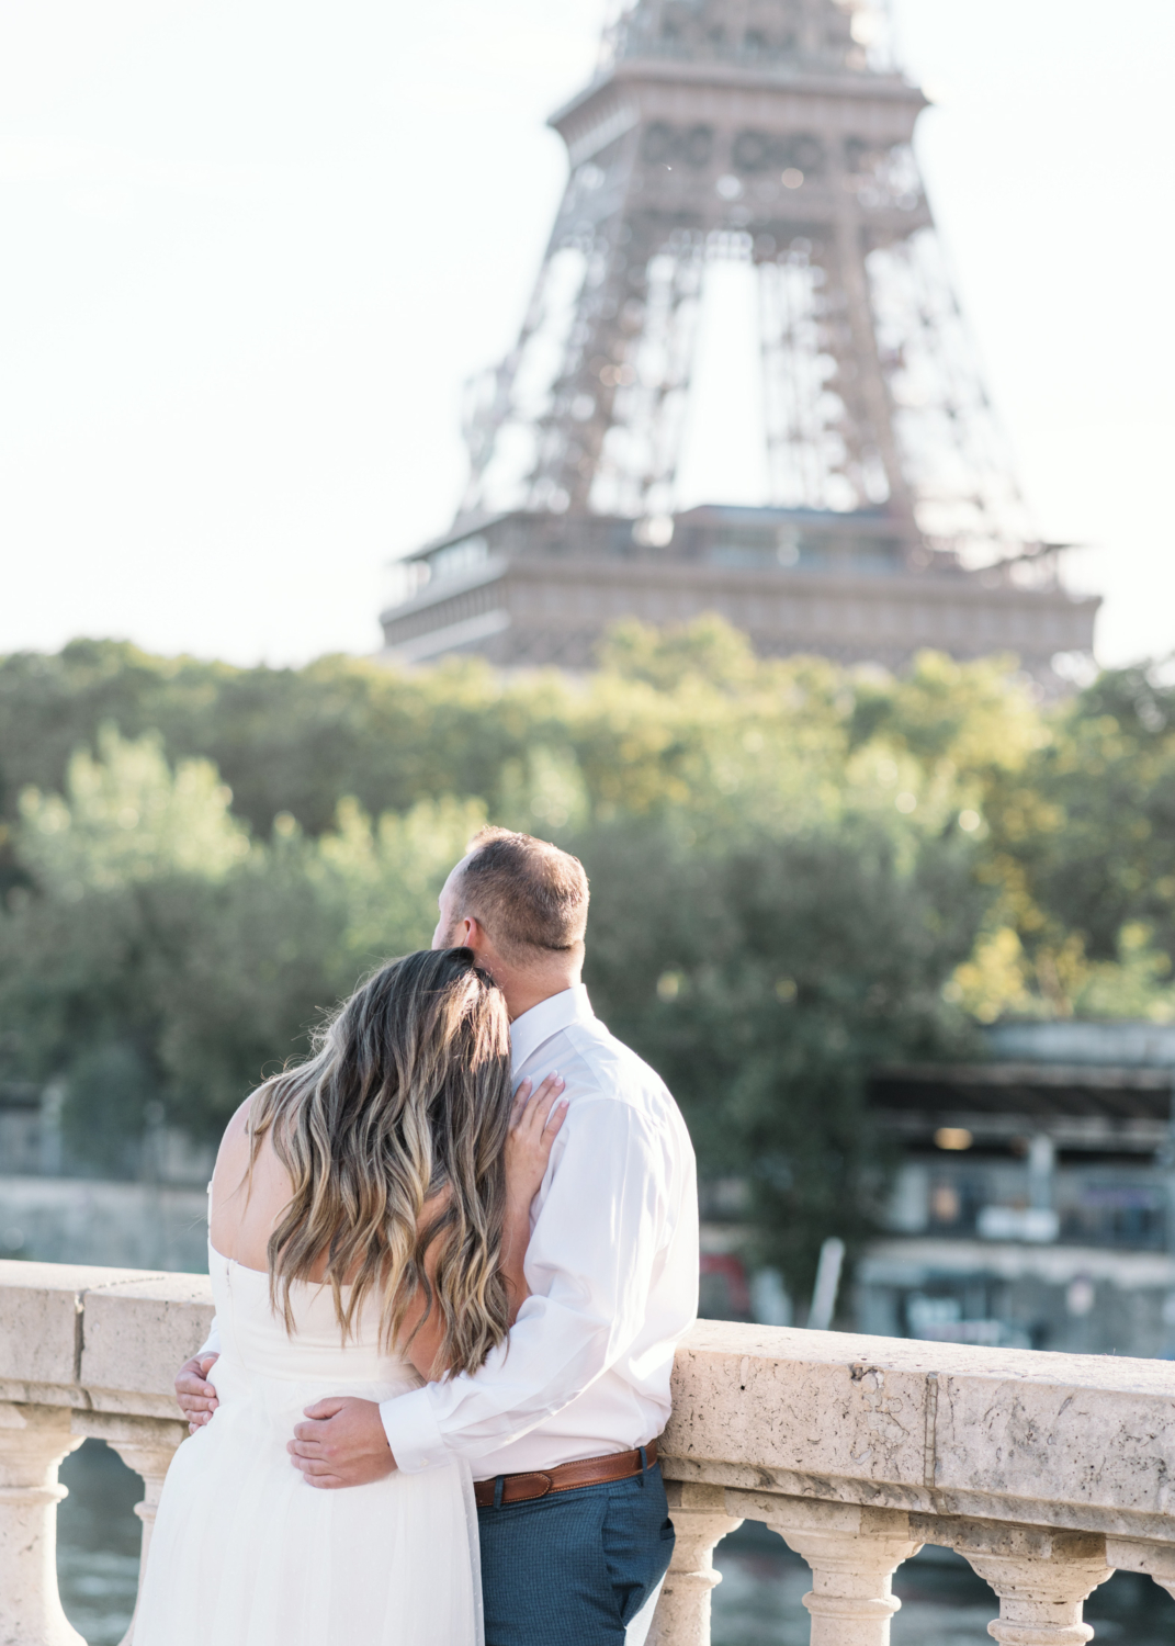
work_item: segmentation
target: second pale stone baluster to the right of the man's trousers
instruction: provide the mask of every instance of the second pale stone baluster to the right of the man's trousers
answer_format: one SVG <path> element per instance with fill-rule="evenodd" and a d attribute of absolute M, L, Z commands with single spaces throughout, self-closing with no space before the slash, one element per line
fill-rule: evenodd
<path fill-rule="evenodd" d="M 910 1534 L 910 1518 L 800 1498 L 760 1503 L 755 1518 L 811 1567 L 811 1590 L 803 1597 L 811 1646 L 889 1646 L 890 1620 L 902 1606 L 894 1572 L 922 1547 Z"/>

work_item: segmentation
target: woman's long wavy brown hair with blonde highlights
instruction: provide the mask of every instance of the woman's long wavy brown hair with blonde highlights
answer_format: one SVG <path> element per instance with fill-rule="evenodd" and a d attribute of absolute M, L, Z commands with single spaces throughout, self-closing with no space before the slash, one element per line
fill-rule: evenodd
<path fill-rule="evenodd" d="M 439 1309 L 444 1325 L 436 1365 L 482 1365 L 509 1327 L 499 1259 L 510 1104 L 505 1002 L 467 948 L 393 960 L 355 989 L 308 1062 L 267 1081 L 252 1104 L 250 1170 L 268 1134 L 293 1182 L 268 1244 L 286 1330 L 291 1284 L 324 1281 L 344 1338 L 374 1295 L 380 1341 L 403 1348 L 423 1294 L 426 1315 Z"/>

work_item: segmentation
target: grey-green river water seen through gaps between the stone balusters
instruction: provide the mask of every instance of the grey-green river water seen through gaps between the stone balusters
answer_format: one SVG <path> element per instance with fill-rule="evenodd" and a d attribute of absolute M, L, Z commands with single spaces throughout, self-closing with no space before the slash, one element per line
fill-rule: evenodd
<path fill-rule="evenodd" d="M 99 1440 L 61 1465 L 69 1496 L 58 1518 L 58 1577 L 74 1628 L 89 1646 L 117 1646 L 135 1606 L 142 1481 Z M 747 1523 L 719 1544 L 713 1646 L 808 1646 L 801 1597 L 808 1567 L 765 1526 Z M 991 1646 L 999 1605 L 971 1567 L 946 1549 L 923 1549 L 899 1570 L 902 1610 L 892 1646 Z M 1175 1600 L 1150 1579 L 1117 1572 L 1086 1605 L 1096 1641 L 1172 1646 Z M 359 1643 L 357 1643 L 359 1646 Z"/>

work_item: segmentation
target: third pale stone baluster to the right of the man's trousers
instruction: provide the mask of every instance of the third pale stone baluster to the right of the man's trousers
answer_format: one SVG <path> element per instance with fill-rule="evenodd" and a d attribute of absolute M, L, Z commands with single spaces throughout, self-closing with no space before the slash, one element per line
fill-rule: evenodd
<path fill-rule="evenodd" d="M 940 1541 L 946 1541 L 941 1532 L 935 1536 Z M 1081 1646 L 1093 1639 L 1081 1610 L 1098 1583 L 1112 1577 L 1104 1537 L 971 1521 L 951 1532 L 950 1544 L 999 1595 L 999 1618 L 987 1633 L 1002 1646 Z"/>

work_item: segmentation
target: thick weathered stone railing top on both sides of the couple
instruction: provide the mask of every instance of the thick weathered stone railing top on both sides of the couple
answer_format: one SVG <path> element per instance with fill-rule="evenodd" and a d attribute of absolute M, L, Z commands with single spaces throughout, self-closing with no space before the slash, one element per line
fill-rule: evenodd
<path fill-rule="evenodd" d="M 211 1284 L 0 1262 L 0 1401 L 176 1419 Z M 701 1320 L 665 1473 L 1175 1544 L 1175 1365 Z"/>

